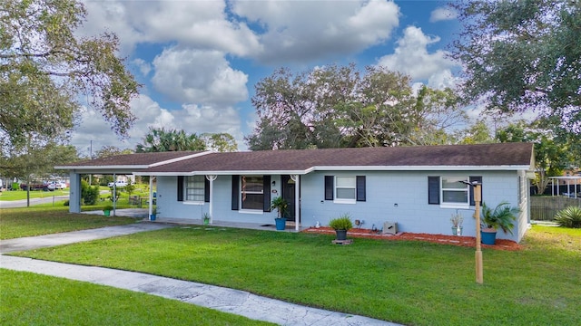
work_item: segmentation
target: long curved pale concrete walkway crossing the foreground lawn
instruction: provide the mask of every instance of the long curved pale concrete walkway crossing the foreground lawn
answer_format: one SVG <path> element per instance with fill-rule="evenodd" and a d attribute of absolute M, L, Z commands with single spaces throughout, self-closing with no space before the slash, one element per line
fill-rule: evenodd
<path fill-rule="evenodd" d="M 0 267 L 145 292 L 221 312 L 231 312 L 252 320 L 270 321 L 280 325 L 398 325 L 389 321 L 379 321 L 358 315 L 330 312 L 273 300 L 250 292 L 174 280 L 146 273 L 54 263 L 6 255 L 0 255 Z"/>

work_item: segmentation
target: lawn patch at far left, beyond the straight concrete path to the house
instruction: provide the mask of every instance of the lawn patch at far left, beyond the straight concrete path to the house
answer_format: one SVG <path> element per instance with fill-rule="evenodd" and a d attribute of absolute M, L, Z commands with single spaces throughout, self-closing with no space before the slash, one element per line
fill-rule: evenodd
<path fill-rule="evenodd" d="M 68 208 L 68 206 L 2 208 L 0 209 L 0 239 L 49 235 L 136 222 L 136 219 L 131 217 L 69 213 Z"/>

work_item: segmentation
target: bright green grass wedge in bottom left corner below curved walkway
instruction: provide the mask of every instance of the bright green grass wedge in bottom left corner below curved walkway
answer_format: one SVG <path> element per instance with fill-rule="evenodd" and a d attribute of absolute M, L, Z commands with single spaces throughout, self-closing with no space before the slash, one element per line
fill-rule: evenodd
<path fill-rule="evenodd" d="M 0 269 L 2 325 L 270 325 L 193 304 Z"/>

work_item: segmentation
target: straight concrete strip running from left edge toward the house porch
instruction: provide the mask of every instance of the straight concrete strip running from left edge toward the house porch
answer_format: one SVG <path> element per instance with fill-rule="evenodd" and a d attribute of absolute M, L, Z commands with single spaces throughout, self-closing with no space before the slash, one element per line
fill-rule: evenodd
<path fill-rule="evenodd" d="M 68 245 L 78 242 L 103 239 L 118 235 L 131 235 L 137 232 L 160 230 L 175 225 L 140 222 L 131 225 L 105 226 L 96 229 L 64 232 L 53 235 L 28 236 L 17 239 L 0 240 L 0 254 L 55 245 Z"/>

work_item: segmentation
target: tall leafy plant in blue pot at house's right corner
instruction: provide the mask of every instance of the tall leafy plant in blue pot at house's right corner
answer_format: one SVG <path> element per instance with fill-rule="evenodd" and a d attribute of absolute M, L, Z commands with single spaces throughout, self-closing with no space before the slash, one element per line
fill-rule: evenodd
<path fill-rule="evenodd" d="M 505 233 L 512 233 L 514 222 L 517 220 L 517 214 L 520 213 L 518 207 L 512 207 L 506 201 L 498 204 L 494 209 L 482 203 L 482 243 L 485 245 L 494 245 L 497 239 L 497 229 L 500 228 Z"/>

